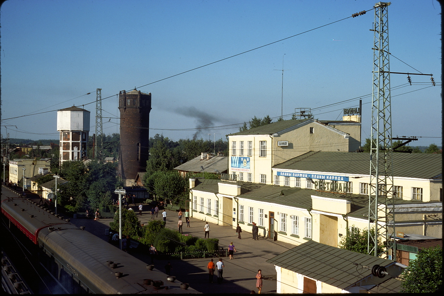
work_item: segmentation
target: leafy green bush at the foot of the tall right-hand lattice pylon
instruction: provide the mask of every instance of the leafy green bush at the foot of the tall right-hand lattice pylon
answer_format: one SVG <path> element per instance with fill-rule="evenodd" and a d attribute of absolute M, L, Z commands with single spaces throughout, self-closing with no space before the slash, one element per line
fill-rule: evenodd
<path fill-rule="evenodd" d="M 349 251 L 361 253 L 361 254 L 368 254 L 368 241 L 369 241 L 369 231 L 367 229 L 359 230 L 359 228 L 354 227 L 354 225 L 351 228 L 347 228 L 345 237 L 341 239 L 341 241 L 338 244 L 338 247 L 341 249 L 347 249 Z M 370 229 L 370 235 L 372 237 L 375 236 L 375 229 Z M 384 251 L 384 243 L 381 241 L 381 239 L 378 239 L 378 246 L 377 246 L 378 254 L 382 253 Z"/>

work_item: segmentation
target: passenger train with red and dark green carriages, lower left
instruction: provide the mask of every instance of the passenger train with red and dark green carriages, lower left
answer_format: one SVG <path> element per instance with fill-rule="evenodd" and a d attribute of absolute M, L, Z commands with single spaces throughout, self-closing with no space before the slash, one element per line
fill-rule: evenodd
<path fill-rule="evenodd" d="M 40 263 L 69 293 L 198 293 L 31 199 L 3 199 L 1 212 L 39 249 Z"/>

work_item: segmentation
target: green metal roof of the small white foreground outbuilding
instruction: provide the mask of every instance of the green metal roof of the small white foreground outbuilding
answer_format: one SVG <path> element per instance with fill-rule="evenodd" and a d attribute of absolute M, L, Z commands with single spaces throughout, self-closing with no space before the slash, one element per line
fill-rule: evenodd
<path fill-rule="evenodd" d="M 371 275 L 371 270 L 362 268 L 362 265 L 388 266 L 395 263 L 392 260 L 339 249 L 316 241 L 307 241 L 266 262 L 340 289 L 348 288 Z"/>

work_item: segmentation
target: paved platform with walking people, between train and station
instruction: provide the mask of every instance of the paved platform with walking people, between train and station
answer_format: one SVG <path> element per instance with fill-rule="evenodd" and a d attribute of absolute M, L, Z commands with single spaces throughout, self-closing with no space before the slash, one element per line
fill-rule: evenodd
<path fill-rule="evenodd" d="M 40 198 L 36 194 L 26 192 L 27 197 L 39 201 Z M 2 187 L 2 195 L 14 196 L 15 193 L 8 188 Z M 132 206 L 133 209 L 137 208 Z M 177 212 L 167 211 L 166 227 L 171 229 L 177 229 Z M 139 213 L 137 210 L 136 213 Z M 148 211 L 148 205 L 143 206 L 142 215 L 138 215 L 141 223 L 151 221 L 151 213 Z M 161 215 L 159 213 L 159 218 Z M 85 226 L 87 231 L 95 234 L 104 241 L 108 241 L 108 236 L 105 231 L 109 228 L 109 223 L 112 222 L 112 218 L 102 218 L 99 221 L 87 218 L 72 218 L 71 223 L 76 226 Z M 216 282 L 217 271 L 214 275 L 214 283 L 208 282 L 208 269 L 207 264 L 210 261 L 208 258 L 202 259 L 185 259 L 185 260 L 170 260 L 173 269 L 171 275 L 177 277 L 183 283 L 189 283 L 190 287 L 198 290 L 202 293 L 250 293 L 254 290 L 256 293 L 256 273 L 258 269 L 262 269 L 262 274 L 266 279 L 263 280 L 261 293 L 274 293 L 276 292 L 276 270 L 274 265 L 270 265 L 265 261 L 273 258 L 274 256 L 285 252 L 288 249 L 292 249 L 295 245 L 288 244 L 281 241 L 273 241 L 273 239 L 260 237 L 259 240 L 252 239 L 251 227 L 242 226 L 242 239 L 238 239 L 235 230 L 230 226 L 218 226 L 213 223 L 210 224 L 210 237 L 218 238 L 219 245 L 227 248 L 231 241 L 236 248 L 234 253 L 234 259 L 229 260 L 228 257 L 223 257 L 224 281 L 222 284 Z M 205 222 L 196 218 L 190 218 L 190 228 L 186 228 L 186 224 L 183 226 L 183 234 L 190 234 L 199 238 L 204 238 L 203 227 Z M 245 228 L 245 229 L 244 229 Z M 146 253 L 129 251 L 133 256 L 140 260 L 151 263 L 149 256 Z M 155 268 L 161 271 L 165 271 L 163 268 L 168 260 L 155 260 Z M 218 261 L 214 258 L 214 263 Z"/>

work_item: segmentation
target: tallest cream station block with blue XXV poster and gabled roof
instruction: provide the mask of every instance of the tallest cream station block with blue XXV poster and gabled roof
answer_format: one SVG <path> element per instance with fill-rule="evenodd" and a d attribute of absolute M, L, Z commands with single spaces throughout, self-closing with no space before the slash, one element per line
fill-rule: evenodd
<path fill-rule="evenodd" d="M 273 183 L 271 168 L 309 151 L 353 152 L 361 123 L 293 119 L 228 135 L 230 175 L 239 181 Z"/>

